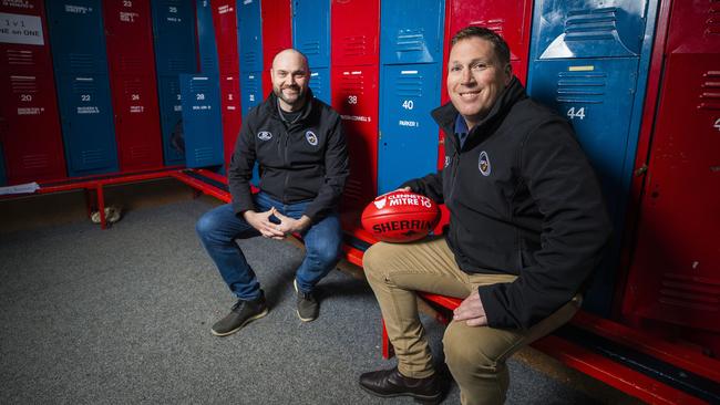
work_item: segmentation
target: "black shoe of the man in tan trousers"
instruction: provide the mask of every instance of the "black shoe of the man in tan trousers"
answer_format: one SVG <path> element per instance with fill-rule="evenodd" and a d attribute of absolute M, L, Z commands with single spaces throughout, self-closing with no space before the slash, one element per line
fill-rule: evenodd
<path fill-rule="evenodd" d="M 412 396 L 423 404 L 439 404 L 442 390 L 438 374 L 425 378 L 411 378 L 400 374 L 398 367 L 360 375 L 360 386 L 372 395 L 389 398 Z"/>

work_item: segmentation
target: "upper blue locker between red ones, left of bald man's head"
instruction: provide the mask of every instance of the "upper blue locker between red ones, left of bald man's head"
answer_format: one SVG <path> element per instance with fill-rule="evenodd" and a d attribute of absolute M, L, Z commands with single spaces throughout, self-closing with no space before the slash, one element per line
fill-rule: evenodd
<path fill-rule="evenodd" d="M 260 0 L 238 0 L 237 24 L 240 72 L 263 71 L 263 18 L 260 15 Z"/>

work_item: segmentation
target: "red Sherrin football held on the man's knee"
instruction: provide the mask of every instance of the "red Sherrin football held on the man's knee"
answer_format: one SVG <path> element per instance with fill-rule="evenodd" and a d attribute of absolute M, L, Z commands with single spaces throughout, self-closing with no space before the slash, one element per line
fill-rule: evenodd
<path fill-rule="evenodd" d="M 432 199 L 411 191 L 392 191 L 368 204 L 361 221 L 378 240 L 410 242 L 428 236 L 439 219 L 440 209 Z"/>

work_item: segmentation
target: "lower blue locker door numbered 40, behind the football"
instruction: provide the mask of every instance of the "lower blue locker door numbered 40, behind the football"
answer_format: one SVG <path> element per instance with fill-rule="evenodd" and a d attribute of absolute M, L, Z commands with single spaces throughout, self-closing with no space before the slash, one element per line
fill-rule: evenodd
<path fill-rule="evenodd" d="M 438 172 L 440 76 L 436 63 L 382 66 L 378 194 Z"/>

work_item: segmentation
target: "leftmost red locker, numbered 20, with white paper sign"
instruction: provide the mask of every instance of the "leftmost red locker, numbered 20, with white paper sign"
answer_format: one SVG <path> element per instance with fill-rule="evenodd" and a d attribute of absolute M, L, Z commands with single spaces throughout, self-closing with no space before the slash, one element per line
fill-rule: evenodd
<path fill-rule="evenodd" d="M 2 2 L 0 143 L 8 184 L 66 177 L 43 1 Z"/>

